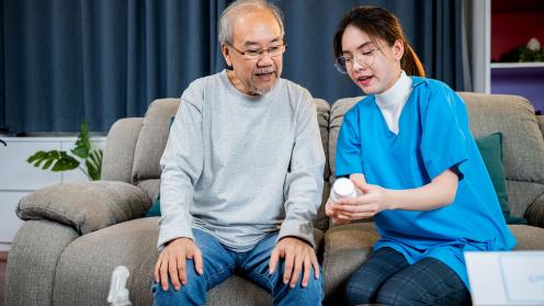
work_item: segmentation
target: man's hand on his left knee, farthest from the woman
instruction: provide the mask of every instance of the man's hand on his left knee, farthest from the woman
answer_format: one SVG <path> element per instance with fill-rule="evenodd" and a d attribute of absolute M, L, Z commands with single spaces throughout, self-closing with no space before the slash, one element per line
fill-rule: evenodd
<path fill-rule="evenodd" d="M 163 291 L 168 291 L 168 277 L 172 281 L 174 290 L 180 290 L 181 284 L 188 283 L 185 259 L 194 261 L 196 273 L 204 272 L 202 263 L 202 252 L 190 238 L 178 238 L 160 252 L 159 260 L 155 264 L 155 281 L 159 283 Z"/>

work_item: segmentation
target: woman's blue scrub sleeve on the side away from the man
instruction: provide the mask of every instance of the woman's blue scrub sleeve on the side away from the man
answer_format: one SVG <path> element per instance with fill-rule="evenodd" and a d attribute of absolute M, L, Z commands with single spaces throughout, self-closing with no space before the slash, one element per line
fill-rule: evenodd
<path fill-rule="evenodd" d="M 421 103 L 421 155 L 430 179 L 456 168 L 463 179 L 461 165 L 468 159 L 466 105 L 446 86 L 433 89 L 427 103 Z"/>

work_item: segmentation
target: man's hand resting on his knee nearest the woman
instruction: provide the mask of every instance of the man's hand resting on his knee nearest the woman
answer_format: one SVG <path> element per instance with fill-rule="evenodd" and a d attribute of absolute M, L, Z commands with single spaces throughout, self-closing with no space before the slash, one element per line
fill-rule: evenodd
<path fill-rule="evenodd" d="M 314 267 L 314 276 L 319 279 L 319 263 L 317 262 L 316 252 L 305 241 L 294 238 L 284 237 L 277 245 L 270 257 L 270 274 L 274 273 L 280 258 L 285 259 L 285 271 L 283 272 L 283 283 L 291 283 L 291 287 L 296 286 L 296 282 L 301 276 L 301 270 L 304 269 L 302 286 L 308 285 L 311 267 Z"/>

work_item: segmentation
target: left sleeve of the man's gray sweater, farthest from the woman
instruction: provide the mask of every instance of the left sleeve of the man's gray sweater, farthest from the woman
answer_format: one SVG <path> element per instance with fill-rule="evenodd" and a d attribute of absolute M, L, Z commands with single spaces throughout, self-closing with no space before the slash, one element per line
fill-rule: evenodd
<path fill-rule="evenodd" d="M 193 103 L 191 87 L 183 93 L 167 146 L 160 159 L 160 211 L 158 249 L 161 251 L 172 239 L 186 237 L 194 240 L 194 184 L 203 169 L 202 112 Z"/>

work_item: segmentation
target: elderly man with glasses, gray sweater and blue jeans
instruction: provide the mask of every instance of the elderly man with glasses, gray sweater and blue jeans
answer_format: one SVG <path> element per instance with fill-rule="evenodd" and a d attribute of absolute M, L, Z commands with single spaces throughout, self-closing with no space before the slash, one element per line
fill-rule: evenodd
<path fill-rule="evenodd" d="M 181 97 L 161 158 L 156 305 L 202 305 L 233 274 L 280 305 L 320 305 L 313 222 L 325 155 L 309 92 L 281 79 L 281 12 L 230 4 L 219 21 L 233 70 Z"/>

